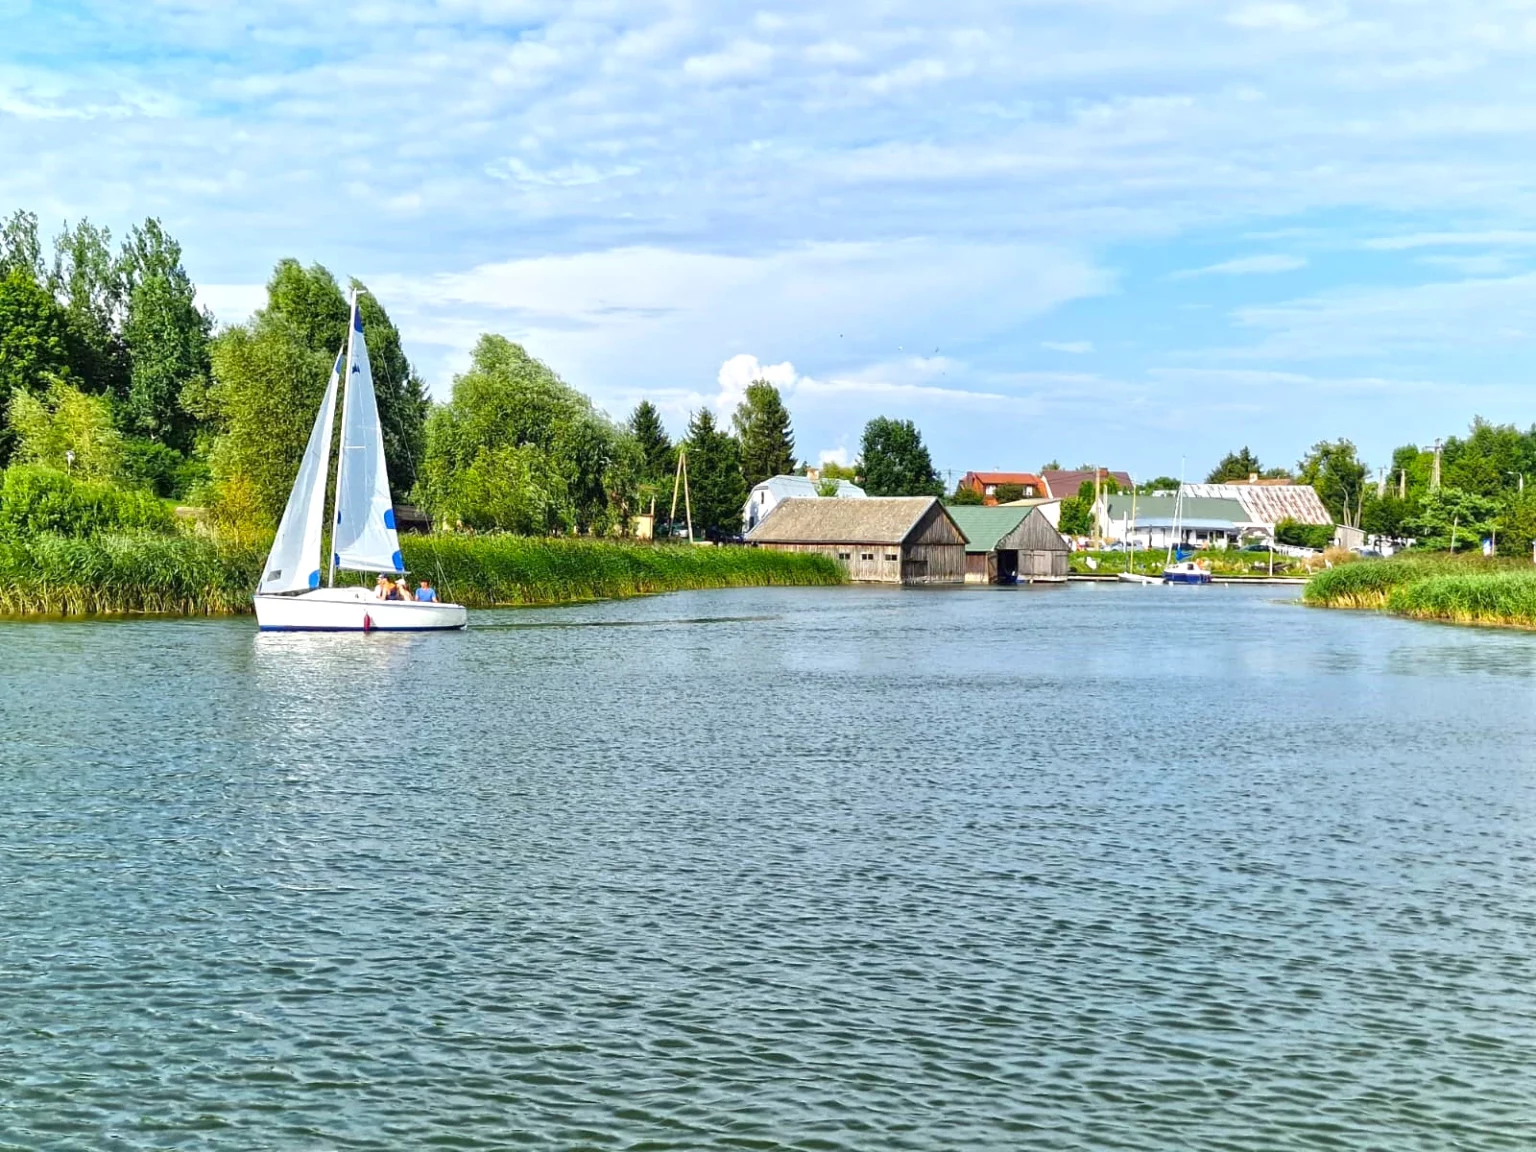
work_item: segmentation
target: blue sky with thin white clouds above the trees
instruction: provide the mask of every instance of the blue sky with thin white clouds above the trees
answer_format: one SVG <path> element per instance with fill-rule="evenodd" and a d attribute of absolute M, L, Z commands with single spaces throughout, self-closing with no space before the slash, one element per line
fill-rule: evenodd
<path fill-rule="evenodd" d="M 161 217 L 238 321 L 369 281 L 802 455 L 1372 464 L 1536 421 L 1525 0 L 0 0 L 0 210 Z"/>

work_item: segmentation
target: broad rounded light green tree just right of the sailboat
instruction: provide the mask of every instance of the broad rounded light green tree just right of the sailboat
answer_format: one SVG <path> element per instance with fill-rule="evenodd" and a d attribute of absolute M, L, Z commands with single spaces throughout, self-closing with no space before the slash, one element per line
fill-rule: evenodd
<path fill-rule="evenodd" d="M 633 499 L 622 492 L 631 465 L 590 399 L 518 344 L 481 336 L 470 370 L 427 421 L 415 499 L 472 528 L 601 531 Z"/>

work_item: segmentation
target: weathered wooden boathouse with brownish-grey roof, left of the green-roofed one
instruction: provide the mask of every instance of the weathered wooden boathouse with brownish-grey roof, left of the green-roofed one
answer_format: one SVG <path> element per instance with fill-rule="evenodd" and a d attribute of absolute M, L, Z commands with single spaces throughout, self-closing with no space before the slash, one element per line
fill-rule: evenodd
<path fill-rule="evenodd" d="M 965 533 L 932 496 L 779 501 L 746 542 L 831 556 L 868 584 L 965 581 Z"/>

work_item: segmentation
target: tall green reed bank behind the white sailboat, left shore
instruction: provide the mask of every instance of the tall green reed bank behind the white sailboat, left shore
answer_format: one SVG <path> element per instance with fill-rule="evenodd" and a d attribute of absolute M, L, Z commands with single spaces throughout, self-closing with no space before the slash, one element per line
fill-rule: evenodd
<path fill-rule="evenodd" d="M 472 608 L 843 579 L 825 556 L 756 548 L 522 536 L 409 536 L 401 548 L 412 573 L 433 581 L 444 599 Z M 266 544 L 232 547 L 201 536 L 0 542 L 0 613 L 250 611 L 266 551 Z"/>

